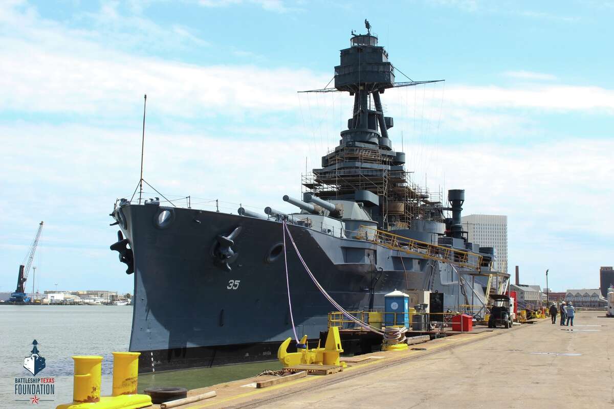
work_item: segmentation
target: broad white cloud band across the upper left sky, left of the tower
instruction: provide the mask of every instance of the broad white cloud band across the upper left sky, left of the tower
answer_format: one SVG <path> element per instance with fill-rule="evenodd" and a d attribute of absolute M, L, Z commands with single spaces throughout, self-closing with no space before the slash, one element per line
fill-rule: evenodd
<path fill-rule="evenodd" d="M 108 10 L 101 15 L 104 21 L 115 18 Z M 147 93 L 163 115 L 249 115 L 294 109 L 297 84 L 317 88 L 329 79 L 283 67 L 198 66 L 134 56 L 104 47 L 93 32 L 41 20 L 32 10 L 7 16 L 0 44 L 5 110 L 132 116 L 135 102 Z M 138 21 L 145 31 L 156 30 Z M 190 37 L 181 27 L 171 30 Z"/>

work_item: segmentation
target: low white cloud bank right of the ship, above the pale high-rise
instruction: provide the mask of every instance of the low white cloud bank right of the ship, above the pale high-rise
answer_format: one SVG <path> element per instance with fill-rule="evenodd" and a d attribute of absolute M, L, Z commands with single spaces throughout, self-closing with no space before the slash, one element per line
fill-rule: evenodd
<path fill-rule="evenodd" d="M 523 282 L 556 271 L 554 288 L 598 283 L 611 262 L 614 140 L 567 139 L 530 146 L 450 145 L 440 152 L 446 188 L 463 188 L 464 214 L 508 216 L 508 266 Z M 431 185 L 442 178 L 429 178 Z M 588 254 L 588 256 L 587 256 Z M 605 263 L 605 264 L 604 264 Z"/>

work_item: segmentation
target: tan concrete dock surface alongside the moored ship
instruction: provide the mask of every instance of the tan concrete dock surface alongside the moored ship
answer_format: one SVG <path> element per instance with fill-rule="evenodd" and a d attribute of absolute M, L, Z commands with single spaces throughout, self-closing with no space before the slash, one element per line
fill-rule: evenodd
<path fill-rule="evenodd" d="M 196 389 L 218 396 L 185 408 L 611 408 L 614 319 L 580 312 L 575 326 L 550 318 L 513 329 L 459 334 L 421 351 L 373 353 L 343 372 L 266 389 L 243 380 Z M 182 407 L 184 408 L 184 407 Z"/>

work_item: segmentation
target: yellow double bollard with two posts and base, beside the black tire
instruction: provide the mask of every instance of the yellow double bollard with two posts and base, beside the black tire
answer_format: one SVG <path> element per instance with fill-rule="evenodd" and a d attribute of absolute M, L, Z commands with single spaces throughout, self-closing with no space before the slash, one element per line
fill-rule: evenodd
<path fill-rule="evenodd" d="M 139 352 L 113 353 L 113 394 L 100 396 L 101 356 L 73 356 L 75 362 L 72 402 L 56 409 L 138 409 L 152 405 L 149 395 L 136 393 Z"/>

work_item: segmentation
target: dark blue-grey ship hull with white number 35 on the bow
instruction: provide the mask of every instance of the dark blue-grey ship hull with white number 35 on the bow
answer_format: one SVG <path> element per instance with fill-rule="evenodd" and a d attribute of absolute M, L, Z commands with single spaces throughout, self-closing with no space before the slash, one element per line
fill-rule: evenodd
<path fill-rule="evenodd" d="M 160 227 L 165 210 L 171 216 Z M 298 337 L 317 339 L 326 331 L 335 308 L 288 244 L 290 315 L 281 223 L 156 205 L 119 211 L 134 256 L 130 351 L 141 352 L 141 372 L 275 359 L 281 342 L 294 337 L 292 318 Z M 237 227 L 238 256 L 227 270 L 216 259 L 218 237 Z M 408 288 L 445 292 L 445 302 L 457 305 L 457 282 L 445 264 L 410 254 L 401 259 L 375 243 L 308 227 L 289 229 L 317 281 L 346 310 L 381 308 L 384 294 Z"/>

